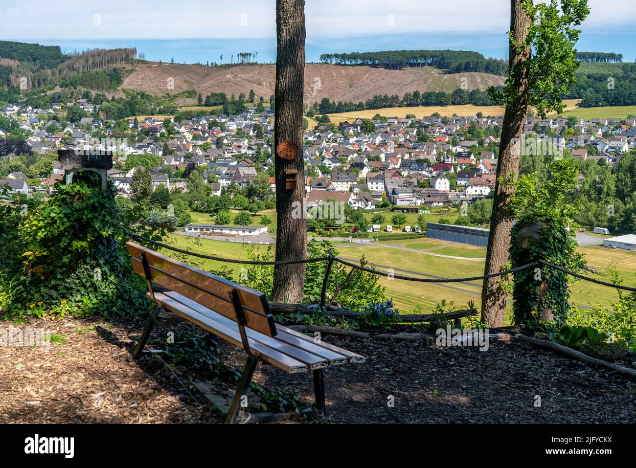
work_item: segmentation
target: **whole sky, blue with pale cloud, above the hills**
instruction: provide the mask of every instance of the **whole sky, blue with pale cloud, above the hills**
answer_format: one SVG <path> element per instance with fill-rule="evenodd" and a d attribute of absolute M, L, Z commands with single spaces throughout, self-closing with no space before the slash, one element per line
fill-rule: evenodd
<path fill-rule="evenodd" d="M 578 50 L 636 59 L 634 0 L 589 0 Z M 307 0 L 306 55 L 396 49 L 477 50 L 506 57 L 508 0 Z M 3 5 L 0 39 L 63 50 L 135 46 L 148 60 L 223 62 L 238 52 L 275 60 L 275 1 L 149 3 L 21 0 Z"/>

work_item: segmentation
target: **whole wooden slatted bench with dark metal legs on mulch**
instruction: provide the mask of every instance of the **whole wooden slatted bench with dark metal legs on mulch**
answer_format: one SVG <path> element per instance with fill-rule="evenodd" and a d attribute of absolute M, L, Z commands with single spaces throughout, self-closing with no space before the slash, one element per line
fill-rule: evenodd
<path fill-rule="evenodd" d="M 366 361 L 366 357 L 359 354 L 275 324 L 263 292 L 198 270 L 134 242 L 126 245 L 132 257 L 133 269 L 146 277 L 148 297 L 155 303 L 135 347 L 135 358 L 139 357 L 146 345 L 159 306 L 247 353 L 247 362 L 226 423 L 236 421 L 240 399 L 249 389 L 258 361 L 268 362 L 290 374 L 312 371 L 315 408 L 321 412 L 325 410 L 322 369 L 347 362 Z M 156 292 L 153 282 L 170 291 Z"/>

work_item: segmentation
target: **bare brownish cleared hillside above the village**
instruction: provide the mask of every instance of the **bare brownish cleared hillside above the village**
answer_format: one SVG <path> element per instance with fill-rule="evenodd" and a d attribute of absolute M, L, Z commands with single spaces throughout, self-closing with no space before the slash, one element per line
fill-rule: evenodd
<path fill-rule="evenodd" d="M 169 79 L 174 80 L 170 88 Z M 402 71 L 346 65 L 307 64 L 305 67 L 305 101 L 314 102 L 323 97 L 337 101 L 359 102 L 374 94 L 397 94 L 418 90 L 452 92 L 462 85 L 467 89 L 485 90 L 491 85 L 502 85 L 503 76 L 486 73 L 443 74 L 433 67 L 408 68 Z M 205 65 L 141 64 L 135 67 L 123 82 L 122 88 L 163 95 L 195 89 L 202 95 L 225 92 L 249 93 L 266 99 L 274 92 L 275 65 L 240 65 L 232 68 Z M 196 99 L 185 99 L 178 104 L 194 104 Z"/>

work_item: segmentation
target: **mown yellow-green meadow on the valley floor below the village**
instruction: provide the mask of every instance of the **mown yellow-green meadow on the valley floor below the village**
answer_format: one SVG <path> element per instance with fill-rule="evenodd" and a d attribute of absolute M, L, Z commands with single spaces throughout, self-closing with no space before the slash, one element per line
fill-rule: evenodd
<path fill-rule="evenodd" d="M 178 245 L 193 252 L 245 259 L 246 247 L 235 242 L 197 239 L 179 235 L 169 235 L 169 239 L 170 242 L 175 243 L 173 245 Z M 411 249 L 422 249 L 422 251 L 452 256 L 471 258 L 483 258 L 485 256 L 485 249 L 481 247 L 452 244 L 432 239 L 384 241 L 383 243 L 403 245 Z M 266 247 L 263 245 L 256 248 L 259 251 L 263 251 Z M 467 261 L 437 257 L 424 254 L 424 252 L 419 254 L 418 252 L 402 251 L 382 245 L 340 244 L 337 245 L 336 249 L 340 257 L 357 260 L 364 255 L 370 263 L 377 265 L 380 270 L 393 267 L 396 274 L 411 276 L 417 276 L 419 272 L 446 278 L 471 277 L 483 274 L 484 268 L 483 260 Z M 592 275 L 590 273 L 591 277 L 611 281 L 609 273 L 611 268 L 614 268 L 618 273 L 619 279 L 623 280 L 623 284 L 633 285 L 636 283 L 636 252 L 605 249 L 604 247 L 580 247 L 579 250 L 586 255 L 588 265 L 596 268 L 598 272 L 604 275 Z M 171 252 L 166 253 L 171 254 Z M 190 258 L 186 261 L 190 261 Z M 192 261 L 200 262 L 200 266 L 203 268 L 218 269 L 224 265 L 216 261 L 195 258 Z M 235 276 L 239 272 L 240 267 L 237 265 L 229 264 L 225 266 L 235 272 Z M 419 306 L 424 311 L 430 311 L 442 299 L 446 299 L 446 302 L 453 301 L 457 308 L 466 305 L 467 301 L 475 301 L 477 305 L 480 302 L 480 281 L 472 281 L 467 284 L 434 284 L 382 277 L 380 283 L 387 288 L 387 297 L 393 298 L 397 308 L 403 313 L 413 310 L 416 306 Z M 582 306 L 593 306 L 596 303 L 600 303 L 605 307 L 611 307 L 611 302 L 616 301 L 618 298 L 615 289 L 583 280 L 572 283 L 571 289 L 572 296 L 570 299 L 577 305 Z"/>

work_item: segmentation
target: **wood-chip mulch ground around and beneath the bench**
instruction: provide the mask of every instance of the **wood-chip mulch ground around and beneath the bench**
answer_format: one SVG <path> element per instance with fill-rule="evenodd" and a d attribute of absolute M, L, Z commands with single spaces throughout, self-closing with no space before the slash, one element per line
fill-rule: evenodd
<path fill-rule="evenodd" d="M 9 326 L 0 322 L 0 329 Z M 0 347 L 0 423 L 221 422 L 209 405 L 196 404 L 158 359 L 132 359 L 141 320 L 18 325 L 26 326 L 50 329 L 66 343 L 53 343 L 49 350 Z M 89 327 L 95 329 L 85 331 Z M 160 320 L 153 336 L 193 329 L 181 320 Z M 241 366 L 245 354 L 220 341 L 226 362 Z M 327 341 L 366 355 L 368 362 L 325 370 L 328 413 L 322 422 L 632 423 L 636 418 L 636 382 L 517 340 L 491 340 L 485 352 L 417 341 L 331 336 Z M 188 368 L 174 370 L 186 385 L 205 378 Z M 254 380 L 313 402 L 310 375 L 287 375 L 261 364 Z"/>

